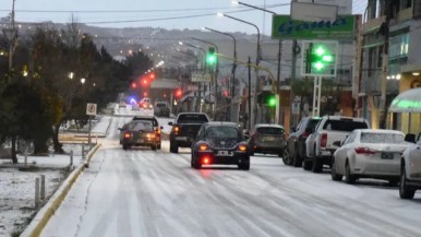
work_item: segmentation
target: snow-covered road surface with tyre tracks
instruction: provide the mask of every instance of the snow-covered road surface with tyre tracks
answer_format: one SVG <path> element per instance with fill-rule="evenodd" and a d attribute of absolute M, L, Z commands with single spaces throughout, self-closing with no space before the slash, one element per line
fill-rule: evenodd
<path fill-rule="evenodd" d="M 382 181 L 334 182 L 327 173 L 253 156 L 250 171 L 190 168 L 190 150 L 123 151 L 108 138 L 41 236 L 420 236 L 421 193 L 400 200 Z"/>

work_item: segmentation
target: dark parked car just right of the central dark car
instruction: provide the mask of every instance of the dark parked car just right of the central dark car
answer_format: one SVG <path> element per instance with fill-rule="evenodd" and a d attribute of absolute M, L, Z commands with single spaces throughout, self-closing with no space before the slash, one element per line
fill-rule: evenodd
<path fill-rule="evenodd" d="M 287 137 L 282 126 L 257 123 L 250 131 L 248 141 L 250 155 L 254 153 L 276 154 L 284 156 L 287 145 Z"/>

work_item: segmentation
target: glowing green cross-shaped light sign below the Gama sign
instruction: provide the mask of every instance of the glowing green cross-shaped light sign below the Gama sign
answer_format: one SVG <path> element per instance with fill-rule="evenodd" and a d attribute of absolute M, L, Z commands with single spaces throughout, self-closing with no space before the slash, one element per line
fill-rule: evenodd
<path fill-rule="evenodd" d="M 313 73 L 323 73 L 335 62 L 334 56 L 325 44 L 311 44 L 308 54 L 308 63 Z"/>

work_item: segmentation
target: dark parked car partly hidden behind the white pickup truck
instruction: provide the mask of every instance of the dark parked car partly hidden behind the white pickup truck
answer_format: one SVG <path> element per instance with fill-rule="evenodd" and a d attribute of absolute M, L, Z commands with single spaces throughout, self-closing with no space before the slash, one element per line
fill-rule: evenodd
<path fill-rule="evenodd" d="M 286 165 L 301 167 L 302 161 L 305 157 L 305 140 L 313 133 L 317 126 L 320 117 L 305 117 L 300 120 L 297 128 L 292 128 L 292 133 L 287 140 L 288 159 Z"/>

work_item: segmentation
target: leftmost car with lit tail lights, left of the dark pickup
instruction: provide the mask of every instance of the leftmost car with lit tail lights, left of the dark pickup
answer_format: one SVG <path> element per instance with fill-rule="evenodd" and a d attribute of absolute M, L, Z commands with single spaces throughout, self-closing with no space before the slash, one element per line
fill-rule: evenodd
<path fill-rule="evenodd" d="M 132 146 L 151 146 L 154 151 L 157 149 L 157 137 L 152 121 L 130 121 L 119 130 L 123 150 L 130 150 Z"/>

